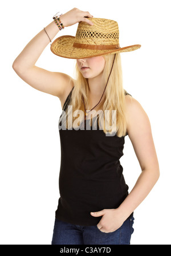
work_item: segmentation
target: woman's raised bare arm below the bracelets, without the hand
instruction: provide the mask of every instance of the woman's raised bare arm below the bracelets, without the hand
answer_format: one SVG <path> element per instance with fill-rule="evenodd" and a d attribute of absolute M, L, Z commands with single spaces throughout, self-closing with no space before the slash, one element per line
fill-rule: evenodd
<path fill-rule="evenodd" d="M 51 40 L 59 32 L 59 28 L 54 21 L 45 27 L 45 29 Z M 67 75 L 50 72 L 35 66 L 39 56 L 49 43 L 50 40 L 43 29 L 32 38 L 22 50 L 21 54 L 14 60 L 13 68 L 20 78 L 36 90 L 60 96 L 63 92 L 62 86 L 67 79 Z"/>

